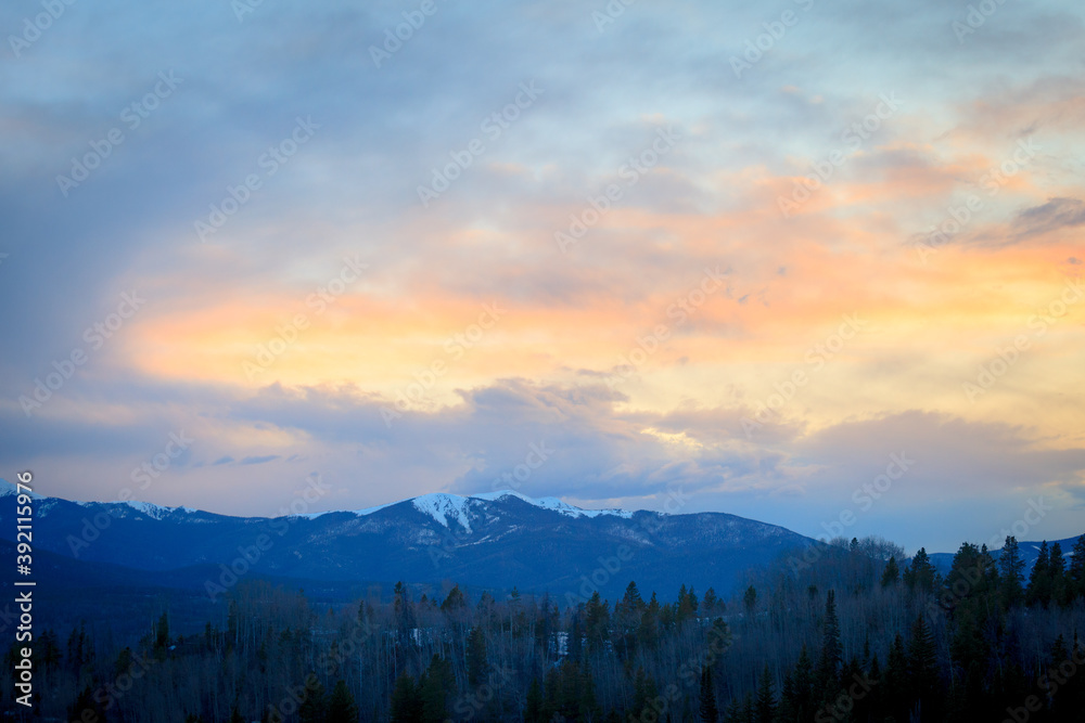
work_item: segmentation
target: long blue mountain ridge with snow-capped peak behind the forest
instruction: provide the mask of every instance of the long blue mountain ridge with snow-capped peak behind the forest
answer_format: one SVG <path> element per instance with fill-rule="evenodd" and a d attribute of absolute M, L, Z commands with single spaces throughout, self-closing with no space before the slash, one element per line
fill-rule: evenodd
<path fill-rule="evenodd" d="M 0 480 L 0 538 L 14 535 L 14 487 Z M 176 579 L 212 596 L 239 577 L 324 583 L 403 580 L 549 592 L 573 603 L 630 580 L 673 597 L 681 584 L 730 592 L 742 573 L 814 543 L 723 513 L 582 509 L 513 491 L 425 494 L 368 509 L 231 517 L 144 502 L 34 503 L 38 551 L 112 566 L 111 580 Z M 133 572 L 118 572 L 117 567 Z M 199 570 L 199 572 L 195 572 Z M 102 570 L 98 570 L 101 572 Z M 168 573 L 168 574 L 164 574 Z M 78 577 L 78 576 L 76 576 Z M 202 578 L 202 579 L 201 579 Z M 194 582 L 195 581 L 195 582 Z"/>

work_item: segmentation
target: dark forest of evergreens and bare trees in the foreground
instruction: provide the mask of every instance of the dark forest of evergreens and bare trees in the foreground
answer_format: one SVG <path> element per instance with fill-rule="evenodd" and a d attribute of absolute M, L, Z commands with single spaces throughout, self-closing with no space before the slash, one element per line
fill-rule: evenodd
<path fill-rule="evenodd" d="M 727 599 L 399 583 L 315 609 L 252 582 L 194 634 L 168 610 L 128 644 L 43 631 L 35 709 L 10 677 L 0 696 L 13 720 L 80 723 L 1085 720 L 1085 537 L 1024 567 L 1013 538 L 997 560 L 961 545 L 944 577 L 923 550 L 867 539 L 781 559 Z"/>

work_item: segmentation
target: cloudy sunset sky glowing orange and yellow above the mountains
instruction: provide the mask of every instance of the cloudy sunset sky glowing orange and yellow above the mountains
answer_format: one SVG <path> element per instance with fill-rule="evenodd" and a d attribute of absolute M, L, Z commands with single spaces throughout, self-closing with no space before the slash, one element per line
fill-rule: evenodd
<path fill-rule="evenodd" d="M 1078 2 L 17 0 L 0 30 L 8 479 L 1085 532 Z"/>

